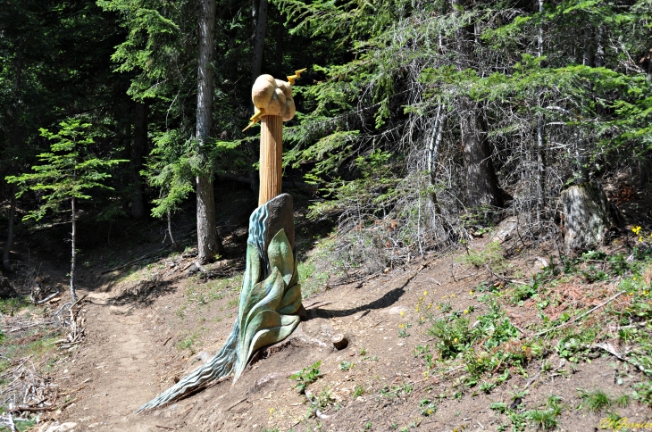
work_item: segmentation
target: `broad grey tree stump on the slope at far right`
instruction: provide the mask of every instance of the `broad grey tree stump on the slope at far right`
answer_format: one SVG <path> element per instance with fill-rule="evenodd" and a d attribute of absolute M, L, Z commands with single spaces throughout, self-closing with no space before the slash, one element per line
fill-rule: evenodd
<path fill-rule="evenodd" d="M 607 229 L 618 225 L 605 191 L 599 185 L 583 183 L 569 187 L 562 192 L 561 198 L 566 253 L 601 245 Z"/>

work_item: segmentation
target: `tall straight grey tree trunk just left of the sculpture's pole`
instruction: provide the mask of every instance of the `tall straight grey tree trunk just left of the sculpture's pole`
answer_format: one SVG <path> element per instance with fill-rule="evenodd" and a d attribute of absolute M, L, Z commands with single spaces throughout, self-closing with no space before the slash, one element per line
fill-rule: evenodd
<path fill-rule="evenodd" d="M 213 36 L 215 33 L 215 0 L 202 0 L 199 15 L 199 65 L 197 68 L 196 137 L 198 152 L 203 156 L 203 170 L 208 169 L 205 141 L 213 126 Z M 222 241 L 215 224 L 215 196 L 210 172 L 196 177 L 197 195 L 197 261 L 213 262 L 222 254 Z"/>

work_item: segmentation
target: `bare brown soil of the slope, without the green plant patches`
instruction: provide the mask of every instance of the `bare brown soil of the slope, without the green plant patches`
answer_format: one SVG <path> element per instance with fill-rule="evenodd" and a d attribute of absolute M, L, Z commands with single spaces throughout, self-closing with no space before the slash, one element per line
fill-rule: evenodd
<path fill-rule="evenodd" d="M 536 270 L 534 260 L 531 265 Z M 57 369 L 59 381 L 79 387 L 77 400 L 54 417 L 78 423 L 79 430 L 111 431 L 497 430 L 509 421 L 489 405 L 511 403 L 514 389 L 527 387 L 523 409 L 559 395 L 564 406 L 559 430 L 598 430 L 606 414 L 576 409 L 581 405 L 577 389 L 600 388 L 614 396 L 629 392 L 628 384 L 637 373 L 613 357 L 600 355 L 590 363 L 570 365 L 553 354 L 548 357 L 553 370 L 541 372 L 540 364 L 533 362 L 528 377 L 513 373 L 489 395 L 457 386 L 461 393 L 452 397 L 456 371 L 424 377 L 424 361 L 414 356 L 414 347 L 428 344 L 431 336 L 428 324 L 418 324 L 424 312 L 417 312 L 415 305 L 427 308 L 445 296 L 456 310 L 477 305 L 469 292 L 488 276 L 444 257 L 370 278 L 362 287 L 354 283 L 323 290 L 305 300 L 308 314 L 297 334 L 255 361 L 237 383 L 225 380 L 142 414 L 134 411 L 205 361 L 205 353 L 219 349 L 236 314 L 229 299 L 237 289 L 230 291 L 232 297 L 209 305 L 188 303 L 188 290 L 205 289 L 213 281 L 185 278 L 179 270 L 166 277 L 155 275 L 155 282 L 124 283 L 105 293 L 89 293 L 87 340 Z M 411 327 L 404 329 L 409 336 L 400 337 L 399 325 L 408 323 Z M 336 333 L 349 337 L 346 349 L 337 351 L 330 344 Z M 193 334 L 194 350 L 201 345 L 201 360 L 183 345 Z M 310 411 L 305 395 L 288 380 L 315 361 L 322 361 L 322 377 L 309 388 L 314 395 L 330 392 L 333 406 L 324 410 L 330 416 L 327 421 L 306 419 Z M 340 370 L 342 361 L 354 366 Z M 624 378 L 622 385 L 617 377 Z M 354 397 L 356 389 L 362 393 Z M 439 395 L 444 396 L 440 401 Z M 422 415 L 422 399 L 435 401 L 437 411 Z M 652 420 L 652 411 L 637 403 L 618 411 L 630 420 Z"/>

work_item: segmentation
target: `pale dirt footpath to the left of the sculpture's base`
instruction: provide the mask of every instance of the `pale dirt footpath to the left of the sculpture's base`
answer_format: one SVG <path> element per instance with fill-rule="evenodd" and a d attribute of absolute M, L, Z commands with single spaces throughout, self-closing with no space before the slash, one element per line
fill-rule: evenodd
<path fill-rule="evenodd" d="M 77 392 L 79 403 L 66 410 L 66 420 L 79 422 L 82 430 L 157 429 L 151 420 L 133 414 L 147 395 L 158 390 L 154 348 L 158 337 L 148 328 L 147 311 L 128 312 L 96 304 L 87 307 L 92 319 L 86 331 L 92 345 L 85 345 L 75 355 L 69 369 L 74 373 L 74 388 L 89 378 L 88 386 Z"/>

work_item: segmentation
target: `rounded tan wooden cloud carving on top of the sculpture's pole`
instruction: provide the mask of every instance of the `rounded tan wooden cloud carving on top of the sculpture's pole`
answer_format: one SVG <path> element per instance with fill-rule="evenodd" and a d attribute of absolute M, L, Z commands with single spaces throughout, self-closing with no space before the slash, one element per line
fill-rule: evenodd
<path fill-rule="evenodd" d="M 290 83 L 274 79 L 272 75 L 261 75 L 255 80 L 251 99 L 254 101 L 255 118 L 280 115 L 283 121 L 288 121 L 295 116 L 295 101 L 292 99 Z"/>

